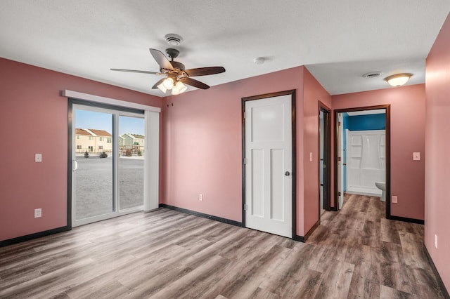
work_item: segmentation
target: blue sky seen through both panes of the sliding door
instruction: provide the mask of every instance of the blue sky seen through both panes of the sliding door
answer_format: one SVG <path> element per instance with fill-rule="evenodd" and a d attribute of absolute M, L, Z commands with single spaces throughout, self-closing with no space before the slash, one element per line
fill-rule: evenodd
<path fill-rule="evenodd" d="M 76 128 L 94 128 L 112 133 L 111 114 L 77 109 L 75 113 Z M 144 135 L 144 119 L 136 117 L 119 117 L 119 135 L 124 133 Z"/>

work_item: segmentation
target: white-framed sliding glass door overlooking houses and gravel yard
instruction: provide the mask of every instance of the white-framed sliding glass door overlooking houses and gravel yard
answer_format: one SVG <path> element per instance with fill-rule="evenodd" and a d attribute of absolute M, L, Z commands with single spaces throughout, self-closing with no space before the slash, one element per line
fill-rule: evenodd
<path fill-rule="evenodd" d="M 143 208 L 143 114 L 72 106 L 72 227 Z"/>

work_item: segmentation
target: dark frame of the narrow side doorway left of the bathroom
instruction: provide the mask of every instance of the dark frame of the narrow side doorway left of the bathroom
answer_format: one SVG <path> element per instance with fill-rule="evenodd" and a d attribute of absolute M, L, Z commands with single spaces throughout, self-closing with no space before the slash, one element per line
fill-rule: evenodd
<path fill-rule="evenodd" d="M 330 211 L 331 201 L 331 109 L 319 100 L 319 153 L 320 153 L 320 112 L 323 112 L 323 209 Z M 320 156 L 320 154 L 319 154 Z M 319 157 L 320 158 L 320 157 Z M 319 163 L 319 168 L 320 168 Z M 320 209 L 320 169 L 319 169 L 319 220 L 321 219 Z"/>

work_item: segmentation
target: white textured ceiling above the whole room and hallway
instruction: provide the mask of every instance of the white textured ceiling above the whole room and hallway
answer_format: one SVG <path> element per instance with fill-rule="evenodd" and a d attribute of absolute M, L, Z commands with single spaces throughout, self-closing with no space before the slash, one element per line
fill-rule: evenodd
<path fill-rule="evenodd" d="M 397 72 L 425 82 L 449 11 L 449 0 L 1 0 L 0 57 L 164 96 L 159 77 L 110 68 L 158 72 L 148 48 L 176 33 L 186 68 L 226 68 L 195 78 L 211 86 L 306 65 L 333 95 L 386 88 Z M 361 77 L 371 71 L 383 75 Z"/>

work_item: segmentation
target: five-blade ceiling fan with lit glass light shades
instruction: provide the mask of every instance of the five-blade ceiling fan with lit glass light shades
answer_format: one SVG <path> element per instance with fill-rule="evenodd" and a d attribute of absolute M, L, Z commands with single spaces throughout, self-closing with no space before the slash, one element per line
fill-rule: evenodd
<path fill-rule="evenodd" d="M 162 75 L 165 78 L 160 79 L 153 85 L 153 89 L 159 88 L 160 91 L 166 93 L 172 90 L 172 95 L 178 95 L 188 89 L 187 85 L 194 86 L 201 89 L 210 88 L 207 84 L 191 77 L 206 76 L 210 74 L 219 74 L 225 72 L 224 67 L 198 67 L 196 69 L 185 69 L 184 64 L 174 61 L 178 57 L 179 51 L 174 48 L 166 49 L 167 56 L 171 58 L 169 61 L 167 57 L 159 50 L 150 48 L 150 54 L 155 58 L 158 65 L 160 65 L 160 72 L 140 71 L 137 69 L 111 69 L 119 72 L 134 72 L 143 74 Z"/>

